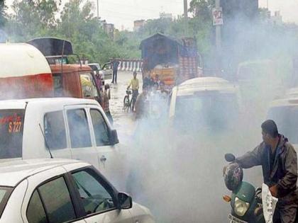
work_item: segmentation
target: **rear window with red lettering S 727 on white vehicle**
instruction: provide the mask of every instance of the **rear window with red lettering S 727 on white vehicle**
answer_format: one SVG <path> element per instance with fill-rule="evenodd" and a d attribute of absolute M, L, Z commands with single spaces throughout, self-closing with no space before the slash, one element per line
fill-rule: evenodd
<path fill-rule="evenodd" d="M 25 110 L 0 110 L 0 159 L 22 156 Z"/>

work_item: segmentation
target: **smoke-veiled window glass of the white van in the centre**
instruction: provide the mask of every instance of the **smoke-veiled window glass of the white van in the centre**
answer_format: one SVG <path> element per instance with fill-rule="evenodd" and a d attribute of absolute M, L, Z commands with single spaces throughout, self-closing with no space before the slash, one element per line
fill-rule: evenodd
<path fill-rule="evenodd" d="M 236 94 L 203 93 L 178 96 L 175 105 L 175 127 L 186 132 L 204 128 L 223 130 L 238 114 Z"/>

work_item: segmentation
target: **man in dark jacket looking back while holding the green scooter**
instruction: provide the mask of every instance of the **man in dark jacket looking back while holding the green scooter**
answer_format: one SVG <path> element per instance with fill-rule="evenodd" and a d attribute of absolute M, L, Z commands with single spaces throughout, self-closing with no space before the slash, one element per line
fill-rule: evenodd
<path fill-rule="evenodd" d="M 273 120 L 261 125 L 263 142 L 236 159 L 242 168 L 262 166 L 264 183 L 278 198 L 273 222 L 292 223 L 297 212 L 297 154 L 287 138 L 280 135 Z"/>

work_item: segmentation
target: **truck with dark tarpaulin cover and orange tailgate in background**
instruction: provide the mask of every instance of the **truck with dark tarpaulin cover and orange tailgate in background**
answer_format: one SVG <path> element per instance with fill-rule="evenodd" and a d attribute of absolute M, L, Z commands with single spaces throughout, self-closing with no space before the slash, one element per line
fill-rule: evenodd
<path fill-rule="evenodd" d="M 157 33 L 140 42 L 143 79 L 158 75 L 160 81 L 172 88 L 183 81 L 201 76 L 197 41 L 177 40 Z"/>

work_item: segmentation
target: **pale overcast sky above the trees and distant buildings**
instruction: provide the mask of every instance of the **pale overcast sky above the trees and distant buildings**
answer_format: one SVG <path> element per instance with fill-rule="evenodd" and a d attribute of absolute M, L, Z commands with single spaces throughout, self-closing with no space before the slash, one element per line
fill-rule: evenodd
<path fill-rule="evenodd" d="M 6 0 L 6 3 L 12 1 Z M 96 15 L 96 0 L 90 1 L 94 3 Z M 259 0 L 259 3 L 260 7 L 267 6 L 267 0 Z M 284 21 L 298 23 L 298 0 L 268 0 L 268 5 L 270 11 L 280 11 Z M 133 21 L 158 18 L 162 11 L 173 16 L 182 15 L 183 0 L 99 0 L 99 16 L 120 30 L 122 27 L 132 30 Z"/>

